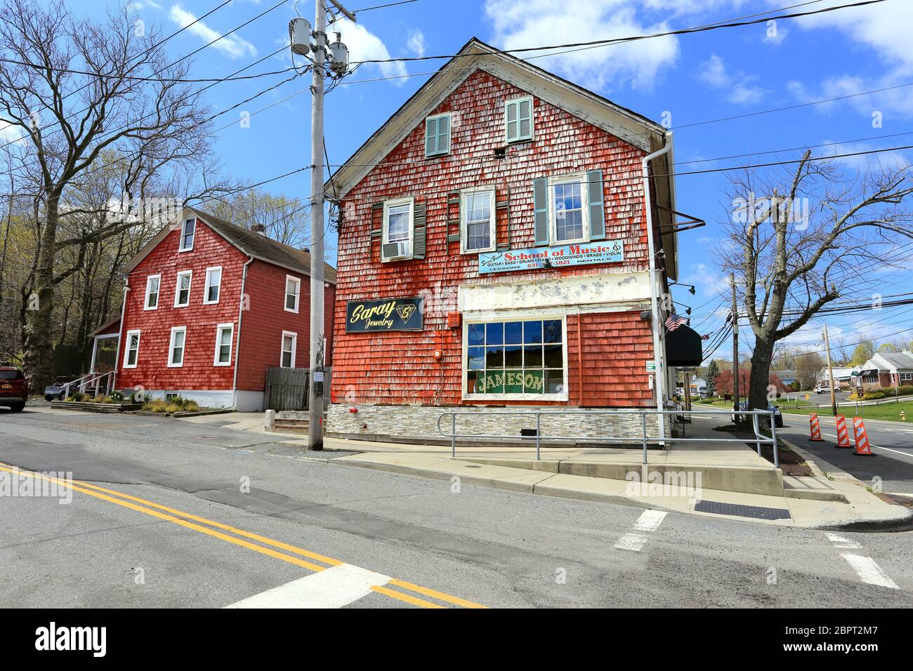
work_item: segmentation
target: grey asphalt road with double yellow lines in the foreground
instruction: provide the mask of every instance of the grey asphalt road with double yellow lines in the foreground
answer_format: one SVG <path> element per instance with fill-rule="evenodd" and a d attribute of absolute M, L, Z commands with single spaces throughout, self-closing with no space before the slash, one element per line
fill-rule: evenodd
<path fill-rule="evenodd" d="M 173 419 L 0 413 L 0 462 L 72 471 L 85 483 L 67 504 L 8 489 L 0 496 L 0 600 L 25 607 L 223 607 L 249 599 L 335 599 L 354 608 L 913 605 L 910 533 L 834 537 L 455 488 L 291 452 L 268 436 Z M 12 477 L 8 470 L 15 469 L 0 475 Z M 639 550 L 624 541 L 632 532 L 645 538 Z M 378 580 L 387 582 L 359 592 Z"/>

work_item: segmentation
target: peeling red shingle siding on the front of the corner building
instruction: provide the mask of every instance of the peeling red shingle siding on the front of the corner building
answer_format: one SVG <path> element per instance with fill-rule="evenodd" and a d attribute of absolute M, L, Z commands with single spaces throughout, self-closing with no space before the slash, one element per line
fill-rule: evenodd
<path fill-rule="evenodd" d="M 453 112 L 450 154 L 425 159 L 423 121 L 347 194 L 343 203 L 346 218 L 339 240 L 334 402 L 460 403 L 462 330 L 447 329 L 446 313 L 456 309 L 456 287 L 461 283 L 514 282 L 647 268 L 640 180 L 645 152 L 535 99 L 534 140 L 512 145 L 505 158 L 496 159 L 493 150 L 504 144 L 504 101 L 522 95 L 524 91 L 488 73 L 475 72 L 432 112 Z M 531 181 L 595 168 L 603 169 L 605 179 L 606 236 L 624 240 L 623 263 L 479 278 L 477 256 L 460 255 L 459 243 L 447 242 L 447 233 L 458 230 L 456 226 L 448 229 L 447 219 L 453 217 L 455 208 L 450 206 L 448 216 L 447 194 L 493 185 L 498 201 L 509 200 L 509 213 L 498 210 L 498 244 L 510 239 L 512 248 L 524 248 L 533 244 Z M 371 239 L 371 229 L 377 225 L 372 225 L 372 205 L 407 195 L 414 195 L 416 203 L 424 201 L 427 207 L 426 257 L 381 263 L 380 242 Z M 423 292 L 436 298 L 425 314 L 423 332 L 345 333 L 348 300 L 407 297 Z M 593 330 L 605 328 L 614 335 L 594 331 L 592 339 L 584 342 L 584 353 L 591 348 L 589 353 L 595 357 L 584 363 L 585 403 L 644 404 L 650 395 L 644 362 L 653 358 L 649 328 L 639 322 L 636 312 L 589 315 L 586 319 L 593 320 Z M 574 320 L 568 319 L 569 340 Z M 432 357 L 436 348 L 444 351 L 441 362 Z M 579 397 L 575 356 L 569 357 L 572 404 Z"/>

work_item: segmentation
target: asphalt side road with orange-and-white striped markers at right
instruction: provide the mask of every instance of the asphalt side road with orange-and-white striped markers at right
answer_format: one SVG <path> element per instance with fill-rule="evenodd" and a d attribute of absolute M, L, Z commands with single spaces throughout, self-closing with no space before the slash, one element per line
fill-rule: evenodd
<path fill-rule="evenodd" d="M 796 445 L 811 452 L 819 461 L 832 465 L 888 493 L 913 496 L 913 423 L 864 420 L 869 445 L 876 456 L 855 455 L 853 449 L 835 447 L 836 419 L 819 415 L 822 442 L 810 439 L 809 418 L 804 414 L 783 413 L 782 432 Z M 853 419 L 846 418 L 846 430 L 853 443 Z M 828 470 L 823 466 L 824 470 Z"/>

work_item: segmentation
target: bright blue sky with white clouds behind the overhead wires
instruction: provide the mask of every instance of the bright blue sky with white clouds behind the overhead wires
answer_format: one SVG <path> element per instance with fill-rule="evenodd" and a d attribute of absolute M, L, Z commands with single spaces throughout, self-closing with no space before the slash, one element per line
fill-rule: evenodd
<path fill-rule="evenodd" d="M 278 0 L 234 0 L 208 16 L 202 24 L 167 43 L 175 58 L 202 46 L 213 37 L 247 21 Z M 847 0 L 823 0 L 790 11 L 806 11 Z M 350 9 L 381 5 L 385 0 L 348 0 Z M 759 12 L 797 5 L 801 0 L 467 0 L 439 2 L 417 0 L 365 11 L 358 24 L 337 26 L 352 60 L 452 54 L 469 37 L 497 47 L 532 47 L 565 44 L 609 37 L 641 35 L 656 31 L 701 26 Z M 135 0 L 145 21 L 173 32 L 219 3 L 217 0 Z M 98 14 L 94 0 L 68 0 L 74 14 Z M 312 19 L 313 3 L 299 0 L 300 16 Z M 206 48 L 195 57 L 193 75 L 220 77 L 262 58 L 287 42 L 292 2 L 270 12 L 231 39 Z M 189 17 L 189 18 L 188 18 Z M 829 14 L 776 22 L 724 28 L 693 35 L 662 37 L 623 46 L 585 49 L 531 62 L 566 79 L 593 89 L 615 102 L 656 121 L 671 119 L 676 136 L 677 162 L 725 157 L 747 152 L 767 152 L 806 145 L 836 143 L 814 150 L 858 152 L 913 144 L 913 135 L 881 137 L 913 131 L 913 87 L 894 89 L 815 105 L 798 110 L 762 114 L 732 121 L 688 126 L 759 110 L 770 110 L 812 100 L 830 99 L 857 91 L 883 89 L 913 81 L 913 3 L 887 0 L 880 5 L 838 10 Z M 365 65 L 327 97 L 326 138 L 331 163 L 342 163 L 404 100 L 408 99 L 445 61 Z M 283 51 L 252 72 L 289 65 Z M 394 78 L 394 79 L 379 79 Z M 278 78 L 225 82 L 207 91 L 215 110 L 224 109 L 265 89 Z M 283 85 L 241 108 L 255 112 L 250 128 L 235 125 L 220 131 L 216 144 L 227 171 L 258 182 L 309 163 L 309 78 Z M 292 94 L 305 91 L 289 98 Z M 284 100 L 289 98 L 289 100 Z M 239 111 L 241 111 L 239 110 Z M 880 127 L 873 114 L 880 113 Z M 233 112 L 234 114 L 235 112 Z M 231 121 L 225 117 L 220 125 Z M 681 128 L 678 128 L 681 127 Z M 876 139 L 870 139 L 876 138 Z M 857 141 L 857 142 L 853 142 Z M 862 142 L 858 142 L 862 141 Z M 689 163 L 680 171 L 701 170 L 750 161 L 797 158 L 801 152 Z M 880 161 L 908 163 L 908 152 L 876 154 L 846 159 L 848 171 L 865 169 Z M 728 173 L 680 175 L 678 209 L 706 219 L 708 225 L 680 236 L 682 282 L 694 284 L 697 295 L 677 288 L 674 298 L 693 308 L 692 326 L 713 332 L 723 319 L 714 312 L 723 303 L 723 285 L 714 263 L 714 250 L 723 244 L 721 222 L 730 216 L 731 198 L 725 195 Z M 303 197 L 308 194 L 307 173 L 271 183 L 274 193 Z M 329 240 L 335 246 L 335 240 Z M 903 250 L 901 250 L 903 251 Z M 873 292 L 883 295 L 913 290 L 909 256 L 900 257 L 902 268 L 882 268 Z M 905 260 L 906 259 L 906 260 Z M 682 308 L 683 309 L 683 308 Z M 855 344 L 864 338 L 913 340 L 913 308 L 874 310 L 852 318 L 827 320 L 832 345 Z M 817 346 L 823 320 L 798 331 L 792 343 Z M 893 334 L 896 331 L 906 332 Z M 742 327 L 751 341 L 750 330 Z M 724 345 L 722 358 L 731 356 Z"/>

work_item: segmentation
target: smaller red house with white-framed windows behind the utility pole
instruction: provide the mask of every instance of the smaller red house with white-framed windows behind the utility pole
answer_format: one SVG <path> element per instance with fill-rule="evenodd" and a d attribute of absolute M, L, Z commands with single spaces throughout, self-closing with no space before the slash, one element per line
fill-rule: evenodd
<path fill-rule="evenodd" d="M 269 367 L 308 367 L 306 250 L 185 207 L 123 272 L 118 389 L 256 411 Z M 325 272 L 331 319 L 336 271 Z M 331 365 L 331 334 L 326 351 Z"/>

